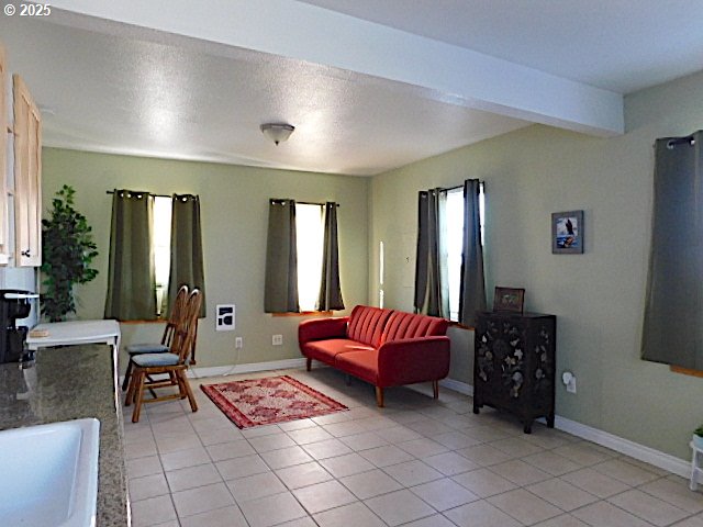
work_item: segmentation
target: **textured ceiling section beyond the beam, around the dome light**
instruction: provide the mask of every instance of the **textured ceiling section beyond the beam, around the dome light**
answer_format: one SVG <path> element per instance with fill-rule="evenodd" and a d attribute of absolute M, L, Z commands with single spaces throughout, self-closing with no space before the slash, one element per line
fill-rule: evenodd
<path fill-rule="evenodd" d="M 368 176 L 528 124 L 264 53 L 2 22 L 47 146 Z M 295 132 L 277 147 L 259 125 L 279 121 Z"/>

